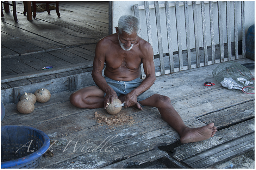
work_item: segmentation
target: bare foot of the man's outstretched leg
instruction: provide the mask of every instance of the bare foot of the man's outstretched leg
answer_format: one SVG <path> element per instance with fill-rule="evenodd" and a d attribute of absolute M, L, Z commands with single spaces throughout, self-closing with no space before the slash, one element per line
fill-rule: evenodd
<path fill-rule="evenodd" d="M 210 137 L 213 137 L 216 134 L 217 128 L 214 127 L 214 123 L 210 123 L 201 128 L 186 128 L 181 134 L 180 142 L 189 143 L 189 142 L 198 142 L 206 140 Z"/>

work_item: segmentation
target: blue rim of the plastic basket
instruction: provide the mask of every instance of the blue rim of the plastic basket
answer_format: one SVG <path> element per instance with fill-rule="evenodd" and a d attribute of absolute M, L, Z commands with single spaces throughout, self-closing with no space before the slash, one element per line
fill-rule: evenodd
<path fill-rule="evenodd" d="M 50 138 L 42 130 L 39 130 L 39 129 L 36 129 L 33 127 L 29 127 L 29 126 L 23 126 L 23 125 L 4 125 L 4 126 L 1 126 L 1 129 L 8 128 L 8 127 L 11 127 L 11 128 L 19 127 L 19 128 L 35 130 L 43 136 L 44 142 L 40 149 L 38 149 L 36 152 L 34 152 L 30 155 L 27 155 L 27 156 L 24 156 L 24 157 L 15 159 L 15 160 L 11 160 L 11 161 L 1 162 L 1 168 L 9 168 L 9 167 L 12 167 L 14 164 L 15 164 L 15 166 L 21 165 L 21 164 L 26 164 L 26 163 L 42 156 L 50 147 Z M 27 157 L 27 159 L 25 159 L 25 157 Z"/>

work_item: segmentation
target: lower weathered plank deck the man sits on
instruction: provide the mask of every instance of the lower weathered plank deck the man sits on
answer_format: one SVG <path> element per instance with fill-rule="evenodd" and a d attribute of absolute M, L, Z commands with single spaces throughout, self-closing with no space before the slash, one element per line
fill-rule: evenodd
<path fill-rule="evenodd" d="M 236 61 L 254 63 L 249 59 Z M 108 125 L 106 120 L 114 116 L 108 115 L 103 108 L 73 107 L 69 102 L 73 91 L 52 94 L 46 103 L 37 102 L 31 114 L 20 114 L 15 104 L 7 104 L 1 124 L 29 125 L 44 131 L 51 140 L 66 141 L 63 145 L 52 145 L 50 150 L 54 157 L 47 155 L 43 158 L 43 168 L 127 168 L 157 159 L 165 160 L 167 152 L 171 151 L 174 152 L 171 154 L 173 158 L 189 165 L 189 157 L 218 146 L 221 149 L 217 152 L 221 152 L 224 150 L 222 146 L 228 142 L 254 136 L 254 95 L 223 88 L 212 76 L 212 70 L 217 66 L 159 76 L 152 87 L 157 93 L 171 98 L 189 127 L 201 127 L 210 122 L 216 124 L 218 132 L 205 141 L 180 145 L 177 132 L 152 107 L 144 107 L 143 111 L 122 109 L 120 115 L 127 121 Z M 251 72 L 254 75 L 254 69 Z M 206 81 L 216 85 L 205 87 Z M 100 123 L 95 113 L 106 120 Z M 167 146 L 167 149 L 160 150 L 158 147 L 163 148 L 161 146 Z M 230 158 L 225 156 L 225 159 Z M 208 161 L 204 167 L 216 162 Z"/>

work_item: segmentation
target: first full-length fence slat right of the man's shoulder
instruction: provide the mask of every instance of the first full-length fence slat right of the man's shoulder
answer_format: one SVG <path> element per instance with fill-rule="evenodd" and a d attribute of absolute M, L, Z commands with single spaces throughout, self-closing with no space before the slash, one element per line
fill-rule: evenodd
<path fill-rule="evenodd" d="M 161 75 L 165 74 L 164 69 L 164 60 L 163 60 L 163 45 L 162 45 L 162 34 L 161 34 L 161 24 L 160 24 L 160 13 L 159 13 L 159 5 L 158 1 L 155 1 L 155 13 L 156 13 L 156 29 L 157 29 L 157 37 L 158 37 L 158 52 L 160 59 L 160 70 Z"/>

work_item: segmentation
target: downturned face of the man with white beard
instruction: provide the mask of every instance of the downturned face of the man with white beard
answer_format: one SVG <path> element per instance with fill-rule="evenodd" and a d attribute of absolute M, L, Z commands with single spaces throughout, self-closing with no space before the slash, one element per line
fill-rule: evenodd
<path fill-rule="evenodd" d="M 118 35 L 118 40 L 121 48 L 125 51 L 129 51 L 132 49 L 133 44 L 137 42 L 137 34 L 132 33 L 131 35 L 123 32 L 122 34 Z"/>

